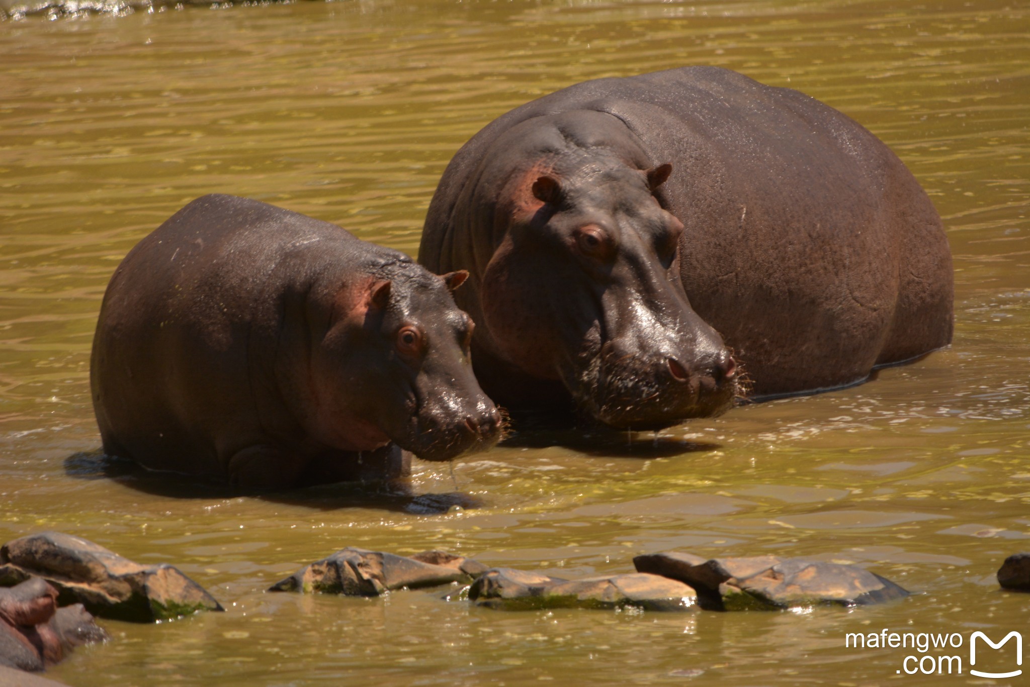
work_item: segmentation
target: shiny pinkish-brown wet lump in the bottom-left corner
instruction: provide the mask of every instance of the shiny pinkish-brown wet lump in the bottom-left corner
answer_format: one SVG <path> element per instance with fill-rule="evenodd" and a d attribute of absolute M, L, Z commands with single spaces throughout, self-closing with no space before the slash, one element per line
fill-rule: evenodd
<path fill-rule="evenodd" d="M 75 647 L 105 639 L 81 604 L 58 608 L 58 590 L 40 578 L 0 588 L 0 665 L 42 671 Z"/>

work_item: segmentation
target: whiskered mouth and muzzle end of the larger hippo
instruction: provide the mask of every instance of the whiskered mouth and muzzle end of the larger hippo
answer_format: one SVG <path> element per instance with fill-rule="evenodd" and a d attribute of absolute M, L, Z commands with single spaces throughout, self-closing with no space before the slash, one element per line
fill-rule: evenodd
<path fill-rule="evenodd" d="M 661 430 L 714 417 L 741 396 L 732 357 L 688 367 L 674 357 L 583 356 L 565 385 L 581 414 L 619 430 Z M 572 382 L 572 383 L 570 383 Z"/>

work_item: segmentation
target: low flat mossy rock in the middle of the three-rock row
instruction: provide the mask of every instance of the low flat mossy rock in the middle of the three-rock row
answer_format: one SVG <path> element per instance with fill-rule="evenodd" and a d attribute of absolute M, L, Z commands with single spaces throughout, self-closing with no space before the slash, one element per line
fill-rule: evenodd
<path fill-rule="evenodd" d="M 695 605 L 697 594 L 682 582 L 643 573 L 564 580 L 495 568 L 473 583 L 469 598 L 476 606 L 511 611 L 623 607 L 686 611 Z"/>

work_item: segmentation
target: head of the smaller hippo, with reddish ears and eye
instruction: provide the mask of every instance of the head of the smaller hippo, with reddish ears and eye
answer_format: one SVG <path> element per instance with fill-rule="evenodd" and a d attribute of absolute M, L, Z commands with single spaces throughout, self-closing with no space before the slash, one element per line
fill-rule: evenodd
<path fill-rule="evenodd" d="M 501 415 L 470 363 L 473 322 L 450 293 L 466 277 L 437 276 L 404 256 L 338 296 L 313 360 L 322 380 L 316 436 L 358 451 L 392 441 L 425 460 L 497 442 Z"/>

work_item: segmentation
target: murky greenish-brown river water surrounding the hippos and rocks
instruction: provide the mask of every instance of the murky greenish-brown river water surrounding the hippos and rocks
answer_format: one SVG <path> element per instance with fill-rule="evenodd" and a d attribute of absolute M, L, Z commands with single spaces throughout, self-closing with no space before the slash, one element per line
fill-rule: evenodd
<path fill-rule="evenodd" d="M 88 365 L 100 299 L 129 248 L 186 201 L 249 196 L 413 252 L 436 180 L 481 126 L 576 81 L 684 64 L 802 90 L 900 154 L 949 230 L 952 348 L 863 386 L 658 437 L 522 432 L 459 462 L 456 487 L 446 468 L 417 465 L 412 497 L 186 497 L 98 472 Z M 0 541 L 80 535 L 174 562 L 228 608 L 105 621 L 112 641 L 50 677 L 970 680 L 967 664 L 961 677 L 897 673 L 911 650 L 846 649 L 844 636 L 1030 638 L 1030 595 L 994 581 L 1005 555 L 1030 548 L 1028 98 L 1030 4 L 1015 0 L 364 0 L 0 23 Z M 478 507 L 444 510 L 456 502 Z M 811 555 L 921 593 L 851 611 L 660 615 L 262 591 L 347 545 L 444 547 L 570 577 L 628 572 L 634 554 L 673 548 Z"/>

